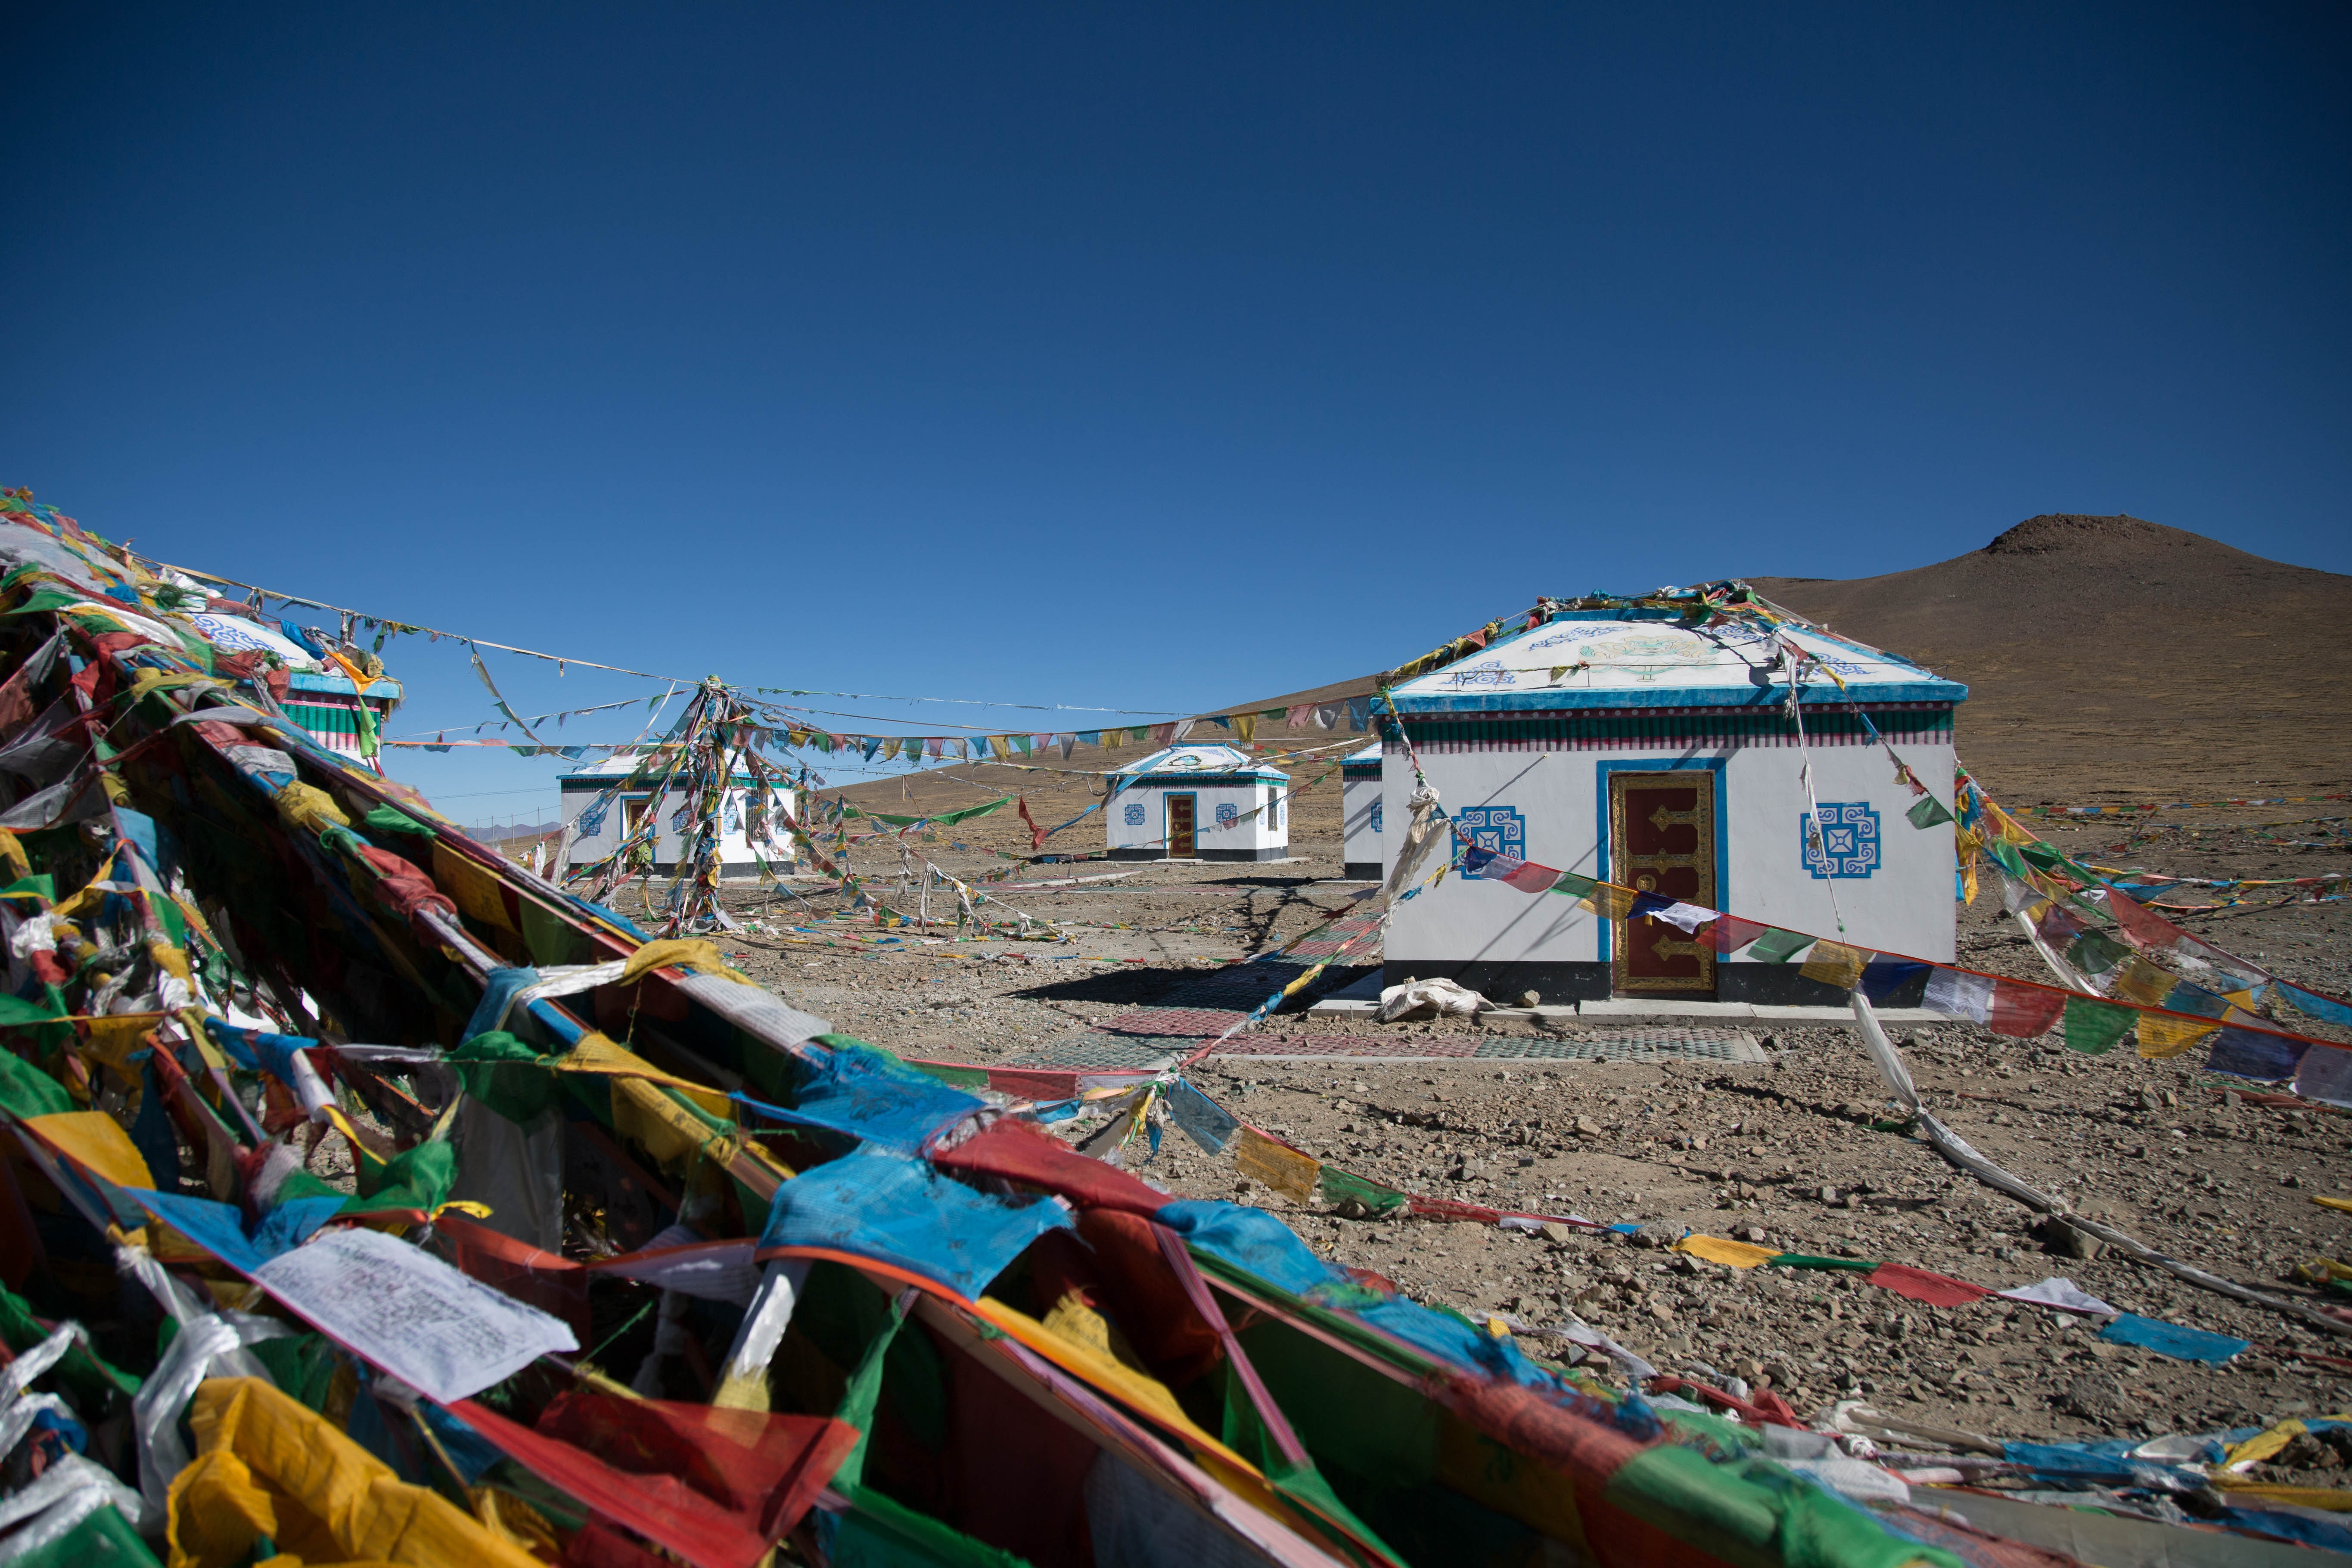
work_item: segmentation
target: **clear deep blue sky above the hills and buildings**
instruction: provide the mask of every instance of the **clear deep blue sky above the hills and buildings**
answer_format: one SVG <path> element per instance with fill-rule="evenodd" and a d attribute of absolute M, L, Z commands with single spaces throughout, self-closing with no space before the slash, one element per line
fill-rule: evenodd
<path fill-rule="evenodd" d="M 2352 571 L 2347 40 L 2343 7 L 9 7 L 0 482 L 647 670 L 1169 710 L 2044 510 Z M 390 656 L 395 733 L 487 712 L 447 646 Z M 494 670 L 527 710 L 640 691 Z M 548 762 L 395 771 L 553 806 Z"/>

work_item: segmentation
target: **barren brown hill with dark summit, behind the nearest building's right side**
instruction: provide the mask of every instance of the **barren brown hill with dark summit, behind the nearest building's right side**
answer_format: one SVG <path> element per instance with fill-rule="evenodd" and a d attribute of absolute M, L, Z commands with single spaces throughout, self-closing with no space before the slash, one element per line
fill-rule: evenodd
<path fill-rule="evenodd" d="M 2352 780 L 2352 576 L 2140 517 L 2053 512 L 1915 571 L 1750 583 L 1969 682 L 1962 759 L 2018 804 Z"/>

